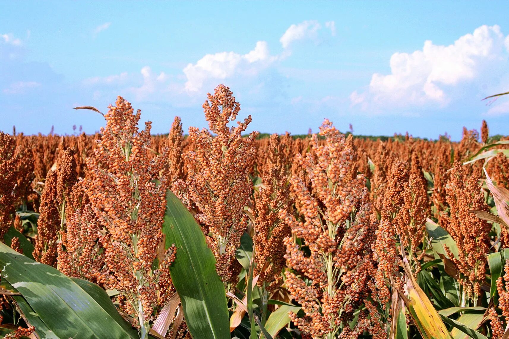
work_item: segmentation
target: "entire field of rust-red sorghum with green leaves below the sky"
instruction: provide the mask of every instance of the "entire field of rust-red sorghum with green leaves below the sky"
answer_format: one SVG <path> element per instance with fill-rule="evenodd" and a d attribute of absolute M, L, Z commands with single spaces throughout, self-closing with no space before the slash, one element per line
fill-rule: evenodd
<path fill-rule="evenodd" d="M 0 133 L 4 338 L 509 337 L 509 139 L 486 121 L 261 138 L 228 87 L 203 109 L 151 135 L 118 97 L 96 135 Z"/>

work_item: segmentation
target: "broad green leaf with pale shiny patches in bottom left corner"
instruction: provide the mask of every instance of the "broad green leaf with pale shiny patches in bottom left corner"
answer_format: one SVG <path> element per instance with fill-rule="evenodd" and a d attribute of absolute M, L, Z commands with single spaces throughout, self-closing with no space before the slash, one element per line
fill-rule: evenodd
<path fill-rule="evenodd" d="M 137 333 L 133 336 L 126 332 L 67 275 L 17 253 L 4 243 L 0 243 L 0 267 L 2 278 L 21 293 L 57 337 L 138 337 Z"/>

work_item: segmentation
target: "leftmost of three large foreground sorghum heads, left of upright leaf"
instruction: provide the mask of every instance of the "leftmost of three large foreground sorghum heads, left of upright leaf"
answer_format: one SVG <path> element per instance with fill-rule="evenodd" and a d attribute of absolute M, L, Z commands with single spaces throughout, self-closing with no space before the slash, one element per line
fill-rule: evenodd
<path fill-rule="evenodd" d="M 135 315 L 140 337 L 146 338 L 157 309 L 174 293 L 168 267 L 175 249 L 169 248 L 154 269 L 162 241 L 166 178 L 160 176 L 164 161 L 149 161 L 151 123 L 138 132 L 140 114 L 133 114 L 131 104 L 121 97 L 116 106 L 109 106 L 83 186 L 95 214 L 84 223 L 90 222 L 92 230 L 99 223 L 105 230 L 99 237 L 105 268 L 97 282 L 121 293 L 124 310 Z M 94 242 L 94 234 L 90 236 Z"/>

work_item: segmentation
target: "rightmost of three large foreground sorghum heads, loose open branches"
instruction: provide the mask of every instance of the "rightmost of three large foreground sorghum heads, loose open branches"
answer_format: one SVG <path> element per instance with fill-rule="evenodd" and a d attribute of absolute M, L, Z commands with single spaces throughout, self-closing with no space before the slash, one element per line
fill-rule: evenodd
<path fill-rule="evenodd" d="M 299 157 L 311 182 L 293 176 L 298 219 L 285 210 L 280 218 L 291 227 L 287 237 L 286 286 L 302 305 L 305 317 L 291 314 L 292 321 L 313 338 L 357 337 L 370 329 L 369 310 L 360 311 L 354 329 L 348 325 L 367 296 L 367 282 L 373 269 L 370 223 L 371 204 L 364 189 L 365 179 L 357 175 L 352 137 L 337 131 L 329 120 L 320 128 L 323 145 L 313 136 L 310 153 Z M 304 250 L 306 248 L 306 250 Z M 308 250 L 308 251 L 307 251 Z"/>

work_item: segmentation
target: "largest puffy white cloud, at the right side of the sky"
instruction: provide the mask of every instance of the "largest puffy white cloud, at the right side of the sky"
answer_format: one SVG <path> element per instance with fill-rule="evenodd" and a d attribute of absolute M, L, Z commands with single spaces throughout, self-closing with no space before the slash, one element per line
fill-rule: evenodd
<path fill-rule="evenodd" d="M 490 76 L 493 65 L 507 67 L 507 38 L 498 25 L 483 25 L 444 46 L 428 40 L 422 50 L 392 54 L 391 73 L 373 74 L 367 90 L 350 95 L 363 109 L 447 105 L 462 85 Z"/>

